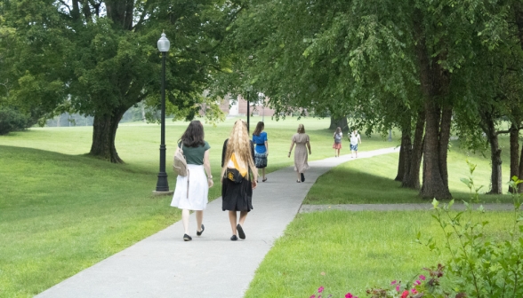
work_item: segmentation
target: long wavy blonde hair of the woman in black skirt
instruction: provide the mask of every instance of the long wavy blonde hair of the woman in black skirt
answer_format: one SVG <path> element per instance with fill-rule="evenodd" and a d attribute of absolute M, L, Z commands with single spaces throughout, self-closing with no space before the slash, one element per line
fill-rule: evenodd
<path fill-rule="evenodd" d="M 232 153 L 235 153 L 238 159 L 249 166 L 253 172 L 253 178 L 256 180 L 258 178 L 258 171 L 253 170 L 256 169 L 256 166 L 254 166 L 253 153 L 251 152 L 251 140 L 249 132 L 247 131 L 247 124 L 242 119 L 235 122 L 232 131 L 230 131 L 225 160 L 223 161 L 223 168 L 221 168 L 221 176 L 225 174 L 227 163 Z"/>

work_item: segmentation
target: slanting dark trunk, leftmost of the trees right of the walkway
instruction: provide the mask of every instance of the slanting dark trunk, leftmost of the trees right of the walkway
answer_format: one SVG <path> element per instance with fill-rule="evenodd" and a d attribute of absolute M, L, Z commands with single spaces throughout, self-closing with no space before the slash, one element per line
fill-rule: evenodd
<path fill-rule="evenodd" d="M 420 189 L 420 168 L 422 167 L 423 155 L 423 131 L 425 129 L 425 114 L 422 112 L 418 115 L 416 120 L 416 127 L 414 129 L 414 144 L 412 147 L 410 168 L 406 171 L 401 186 Z"/>

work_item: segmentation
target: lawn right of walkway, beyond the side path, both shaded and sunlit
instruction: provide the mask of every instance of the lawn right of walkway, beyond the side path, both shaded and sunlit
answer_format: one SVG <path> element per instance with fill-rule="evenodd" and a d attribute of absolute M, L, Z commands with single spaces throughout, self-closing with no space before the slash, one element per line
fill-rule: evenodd
<path fill-rule="evenodd" d="M 507 138 L 501 137 L 501 143 L 508 146 Z M 458 145 L 457 141 L 454 141 L 448 153 L 448 184 L 455 200 L 461 201 L 470 198 L 469 189 L 460 181 L 461 178 L 469 176 L 466 161 L 477 165 L 474 181 L 477 187 L 484 185 L 480 191 L 484 193 L 489 190 L 490 185 L 490 160 L 479 153 L 467 153 Z M 331 169 L 318 178 L 318 182 L 312 186 L 303 203 L 325 205 L 429 202 L 422 200 L 418 191 L 401 188 L 401 183 L 392 180 L 398 172 L 398 155 L 399 153 L 390 153 L 372 159 L 357 159 Z M 503 152 L 503 165 L 509 164 L 509 154 Z M 509 179 L 509 173 L 508 166 L 503 167 L 503 178 L 506 181 Z M 508 185 L 504 186 L 504 191 L 508 192 Z M 509 194 L 482 194 L 480 200 L 512 202 Z"/>

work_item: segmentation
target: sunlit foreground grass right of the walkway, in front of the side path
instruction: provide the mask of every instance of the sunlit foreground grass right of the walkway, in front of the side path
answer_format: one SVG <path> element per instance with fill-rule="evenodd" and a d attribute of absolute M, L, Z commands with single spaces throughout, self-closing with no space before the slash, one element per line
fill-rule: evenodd
<path fill-rule="evenodd" d="M 443 249 L 443 233 L 433 211 L 349 212 L 330 210 L 296 216 L 284 236 L 263 259 L 245 297 L 310 297 L 325 286 L 323 295 L 365 296 L 367 288 L 404 284 L 424 267 L 441 263 L 439 255 L 418 243 L 436 239 Z M 508 213 L 488 212 L 487 235 L 508 237 Z M 478 215 L 477 215 L 478 216 Z"/>

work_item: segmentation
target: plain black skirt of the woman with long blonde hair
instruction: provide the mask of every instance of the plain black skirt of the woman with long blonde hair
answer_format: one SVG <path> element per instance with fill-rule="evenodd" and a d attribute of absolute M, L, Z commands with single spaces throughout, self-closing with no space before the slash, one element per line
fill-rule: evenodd
<path fill-rule="evenodd" d="M 253 208 L 253 185 L 248 179 L 236 184 L 223 178 L 221 184 L 221 209 L 223 211 L 251 211 Z"/>

